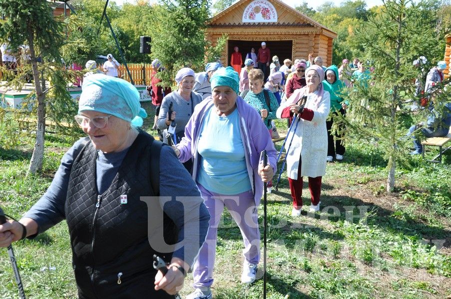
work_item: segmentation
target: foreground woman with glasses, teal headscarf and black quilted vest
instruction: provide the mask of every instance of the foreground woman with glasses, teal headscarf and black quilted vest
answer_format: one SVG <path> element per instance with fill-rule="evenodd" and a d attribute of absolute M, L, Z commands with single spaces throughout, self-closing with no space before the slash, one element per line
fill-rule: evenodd
<path fill-rule="evenodd" d="M 143 117 L 133 85 L 103 74 L 86 77 L 75 120 L 88 138 L 66 152 L 47 192 L 18 222 L 0 225 L 0 247 L 65 219 L 79 298 L 174 298 L 209 216 L 173 150 L 138 129 Z M 183 204 L 142 200 L 158 194 L 192 197 Z M 163 246 L 166 238 L 184 246 L 174 252 Z M 152 267 L 153 254 L 170 262 L 164 278 Z"/>

